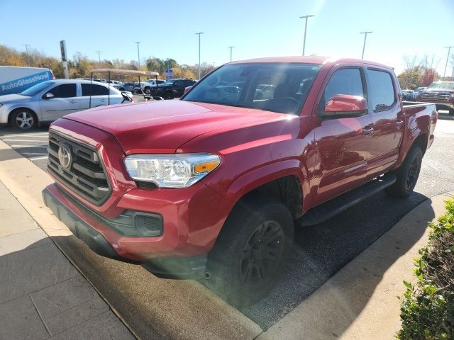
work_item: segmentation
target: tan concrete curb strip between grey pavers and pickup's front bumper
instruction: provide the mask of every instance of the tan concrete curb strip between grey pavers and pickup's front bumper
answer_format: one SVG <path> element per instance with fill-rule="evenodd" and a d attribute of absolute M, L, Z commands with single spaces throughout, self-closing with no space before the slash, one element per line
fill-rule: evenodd
<path fill-rule="evenodd" d="M 96 255 L 44 205 L 41 191 L 51 177 L 1 140 L 0 178 L 138 339 L 252 340 L 262 333 L 195 281 L 162 280 L 140 266 Z"/>

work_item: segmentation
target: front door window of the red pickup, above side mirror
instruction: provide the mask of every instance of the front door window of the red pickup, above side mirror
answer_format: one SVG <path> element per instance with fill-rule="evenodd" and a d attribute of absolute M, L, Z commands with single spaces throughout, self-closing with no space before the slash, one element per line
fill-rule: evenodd
<path fill-rule="evenodd" d="M 360 69 L 339 69 L 334 72 L 326 84 L 319 109 L 324 110 L 326 103 L 336 94 L 349 94 L 364 97 Z"/>

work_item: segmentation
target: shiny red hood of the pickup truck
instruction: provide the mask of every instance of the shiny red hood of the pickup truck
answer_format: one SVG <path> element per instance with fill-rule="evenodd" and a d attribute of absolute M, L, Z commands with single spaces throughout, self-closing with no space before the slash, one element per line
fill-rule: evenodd
<path fill-rule="evenodd" d="M 64 119 L 114 135 L 126 154 L 174 153 L 194 137 L 232 126 L 281 120 L 282 113 L 189 101 L 153 101 L 105 106 Z"/>

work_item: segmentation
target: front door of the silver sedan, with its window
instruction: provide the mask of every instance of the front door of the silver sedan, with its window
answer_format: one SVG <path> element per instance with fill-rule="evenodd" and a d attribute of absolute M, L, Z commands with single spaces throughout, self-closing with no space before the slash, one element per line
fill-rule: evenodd
<path fill-rule="evenodd" d="M 52 94 L 52 98 L 45 98 L 45 94 Z M 63 115 L 80 110 L 77 97 L 77 84 L 60 84 L 52 87 L 41 97 L 40 105 L 43 111 L 43 120 L 56 120 Z"/>

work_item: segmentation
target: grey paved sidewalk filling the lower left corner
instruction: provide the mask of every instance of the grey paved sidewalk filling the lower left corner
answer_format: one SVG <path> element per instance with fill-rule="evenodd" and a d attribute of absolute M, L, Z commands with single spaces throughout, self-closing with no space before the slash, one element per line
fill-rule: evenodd
<path fill-rule="evenodd" d="M 135 339 L 1 181 L 0 339 Z"/>

